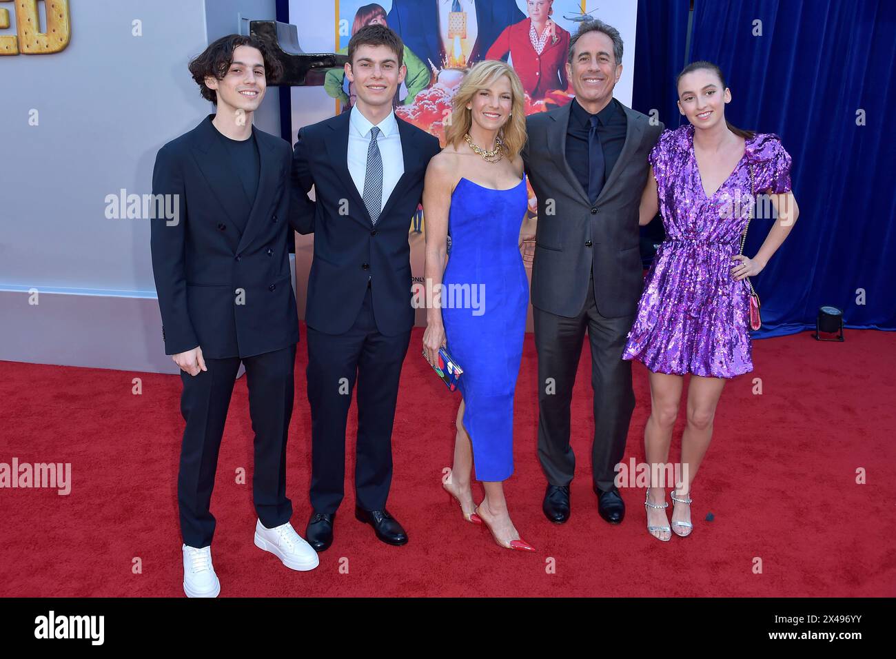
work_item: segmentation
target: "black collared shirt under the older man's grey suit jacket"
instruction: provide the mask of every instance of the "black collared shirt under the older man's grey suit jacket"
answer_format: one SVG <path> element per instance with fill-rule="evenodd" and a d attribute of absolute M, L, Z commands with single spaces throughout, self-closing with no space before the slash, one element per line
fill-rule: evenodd
<path fill-rule="evenodd" d="M 591 114 L 579 105 L 578 100 L 570 101 L 572 107 L 569 113 L 569 127 L 566 129 L 566 161 L 570 169 L 579 179 L 582 189 L 588 192 L 588 133 L 590 130 Z M 607 107 L 600 110 L 598 117 L 598 135 L 600 146 L 604 152 L 604 183 L 610 178 L 610 172 L 619 160 L 625 144 L 625 130 L 627 121 L 625 109 L 616 99 L 610 99 Z M 594 201 L 593 199 L 591 200 Z"/>

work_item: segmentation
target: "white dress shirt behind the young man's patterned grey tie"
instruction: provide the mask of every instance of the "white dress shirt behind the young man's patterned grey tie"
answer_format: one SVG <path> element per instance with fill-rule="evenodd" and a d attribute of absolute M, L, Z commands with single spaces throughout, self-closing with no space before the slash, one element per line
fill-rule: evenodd
<path fill-rule="evenodd" d="M 374 125 L 361 114 L 358 106 L 351 108 L 349 115 L 349 173 L 351 179 L 358 188 L 358 195 L 364 196 L 364 179 L 367 174 L 367 149 L 370 146 L 370 129 Z M 376 125 L 380 134 L 376 137 L 376 143 L 380 148 L 380 157 L 383 159 L 383 204 L 380 210 L 385 208 L 386 201 L 392 195 L 392 190 L 398 183 L 398 179 L 404 174 L 404 156 L 401 152 L 401 134 L 398 132 L 398 122 L 395 113 L 390 112 L 388 117 Z"/>

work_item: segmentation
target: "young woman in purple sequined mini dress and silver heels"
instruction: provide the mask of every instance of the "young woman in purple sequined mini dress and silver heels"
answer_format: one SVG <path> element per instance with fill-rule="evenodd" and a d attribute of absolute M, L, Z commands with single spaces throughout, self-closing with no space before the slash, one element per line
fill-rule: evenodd
<path fill-rule="evenodd" d="M 689 535 L 691 484 L 710 446 L 712 420 L 726 380 L 753 370 L 749 334 L 750 284 L 797 220 L 790 191 L 790 156 L 775 134 L 728 124 L 731 91 L 719 66 L 694 62 L 678 75 L 678 109 L 689 124 L 666 130 L 650 152 L 641 223 L 658 209 L 666 240 L 657 250 L 624 360 L 650 371 L 650 418 L 644 450 L 651 465 L 644 506 L 647 528 L 663 542 L 672 531 Z M 778 212 L 755 256 L 740 254 L 756 197 L 768 195 Z M 759 229 L 758 222 L 753 230 Z M 687 388 L 687 425 L 681 441 L 681 480 L 675 483 L 672 525 L 665 482 L 672 429 Z M 676 474 L 679 475 L 679 474 Z"/>

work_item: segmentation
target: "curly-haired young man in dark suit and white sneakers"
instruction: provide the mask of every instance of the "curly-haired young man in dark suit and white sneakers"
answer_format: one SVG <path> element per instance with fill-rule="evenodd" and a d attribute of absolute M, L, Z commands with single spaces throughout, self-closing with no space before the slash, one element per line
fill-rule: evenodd
<path fill-rule="evenodd" d="M 180 367 L 186 421 L 177 476 L 184 592 L 215 597 L 209 510 L 221 436 L 240 362 L 254 429 L 255 545 L 288 568 L 317 554 L 289 524 L 286 444 L 298 341 L 289 276 L 289 143 L 252 125 L 280 64 L 262 41 L 230 35 L 190 63 L 217 112 L 165 144 L 152 192 L 177 215 L 151 221 L 152 271 L 165 353 Z M 159 197 L 157 197 L 159 198 Z"/>

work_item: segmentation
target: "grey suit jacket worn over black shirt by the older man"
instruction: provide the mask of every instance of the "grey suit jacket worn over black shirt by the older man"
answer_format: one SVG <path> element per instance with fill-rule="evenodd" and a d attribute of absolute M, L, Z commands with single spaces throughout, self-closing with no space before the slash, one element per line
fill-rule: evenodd
<path fill-rule="evenodd" d="M 538 195 L 538 229 L 532 263 L 532 306 L 576 316 L 585 304 L 588 278 L 602 316 L 632 316 L 643 286 L 638 207 L 650 165 L 647 156 L 663 131 L 625 105 L 625 144 L 597 202 L 566 162 L 571 104 L 526 119 L 522 152 Z M 583 162 L 587 168 L 588 163 Z"/>

